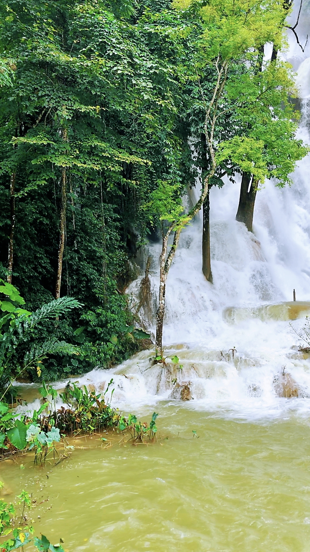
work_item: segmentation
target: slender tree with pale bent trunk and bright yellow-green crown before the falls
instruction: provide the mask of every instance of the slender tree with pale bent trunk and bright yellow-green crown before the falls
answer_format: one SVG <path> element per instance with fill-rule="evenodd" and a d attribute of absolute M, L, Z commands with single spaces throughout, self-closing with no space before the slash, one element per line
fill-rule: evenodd
<path fill-rule="evenodd" d="M 226 161 L 240 172 L 252 172 L 257 182 L 263 182 L 271 174 L 284 183 L 288 181 L 288 173 L 296 160 L 307 152 L 307 148 L 293 138 L 296 127 L 287 115 L 291 113 L 286 97 L 287 87 L 292 85 L 287 67 L 271 62 L 260 75 L 257 72 L 261 47 L 266 42 L 280 43 L 283 24 L 281 4 L 268 1 L 258 6 L 255 2 L 240 0 L 224 5 L 215 0 L 205 7 L 184 2 L 178 5 L 180 9 L 188 10 L 189 15 L 198 10 L 205 24 L 196 43 L 195 55 L 189 63 L 194 67 L 200 88 L 208 168 L 204 173 L 200 197 L 189 213 L 180 213 L 179 199 L 175 204 L 177 210 L 169 203 L 166 214 L 162 212 L 164 203 L 159 202 L 159 205 L 156 198 L 153 201 L 158 216 L 170 220 L 163 235 L 157 311 L 156 357 L 161 359 L 165 285 L 169 268 L 178 247 L 180 232 L 201 209 L 220 163 Z M 249 69 L 238 71 L 240 63 Z M 209 72 L 211 81 L 208 95 L 200 84 L 200 73 L 204 76 L 205 70 Z M 195 73 L 191 73 L 192 79 Z M 285 110 L 281 109 L 281 101 L 285 101 Z M 232 136 L 218 141 L 218 120 L 225 112 L 229 113 L 230 123 L 237 125 Z M 286 146 L 289 147 L 288 161 L 287 156 L 282 155 L 281 147 L 279 151 L 274 151 L 281 135 L 284 139 L 286 137 Z M 167 189 L 163 195 L 167 195 Z M 168 246 L 171 232 L 174 232 L 173 243 Z"/>

